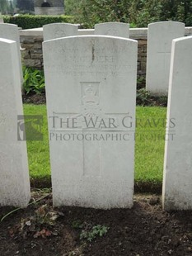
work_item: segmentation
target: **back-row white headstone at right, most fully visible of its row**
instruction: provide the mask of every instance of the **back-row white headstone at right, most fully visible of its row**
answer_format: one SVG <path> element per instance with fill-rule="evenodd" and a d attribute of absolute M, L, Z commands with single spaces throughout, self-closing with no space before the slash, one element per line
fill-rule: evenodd
<path fill-rule="evenodd" d="M 146 88 L 152 94 L 167 95 L 173 39 L 185 35 L 185 24 L 162 21 L 148 25 Z"/>

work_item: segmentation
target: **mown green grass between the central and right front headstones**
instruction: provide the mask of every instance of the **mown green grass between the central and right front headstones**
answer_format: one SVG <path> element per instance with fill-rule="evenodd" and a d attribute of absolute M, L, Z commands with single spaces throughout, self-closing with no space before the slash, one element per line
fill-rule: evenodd
<path fill-rule="evenodd" d="M 136 183 L 161 184 L 166 108 L 137 107 L 136 113 L 137 118 L 142 121 L 138 121 L 136 128 L 135 181 Z M 156 124 L 153 124 L 152 120 Z"/>

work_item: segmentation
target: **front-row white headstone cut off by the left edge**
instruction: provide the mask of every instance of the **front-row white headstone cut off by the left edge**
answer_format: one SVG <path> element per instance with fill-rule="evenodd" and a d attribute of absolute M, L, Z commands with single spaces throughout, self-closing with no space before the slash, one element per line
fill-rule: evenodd
<path fill-rule="evenodd" d="M 23 115 L 15 41 L 0 39 L 0 206 L 27 206 L 30 179 L 26 142 L 17 140 L 17 115 Z"/>

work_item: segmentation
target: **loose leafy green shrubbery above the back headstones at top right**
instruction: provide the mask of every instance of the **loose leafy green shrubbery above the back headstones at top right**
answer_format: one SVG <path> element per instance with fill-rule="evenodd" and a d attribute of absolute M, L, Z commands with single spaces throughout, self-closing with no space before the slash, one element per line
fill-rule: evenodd
<path fill-rule="evenodd" d="M 93 27 L 107 21 L 144 27 L 154 21 L 182 21 L 192 26 L 192 0 L 65 0 L 66 14 Z"/>

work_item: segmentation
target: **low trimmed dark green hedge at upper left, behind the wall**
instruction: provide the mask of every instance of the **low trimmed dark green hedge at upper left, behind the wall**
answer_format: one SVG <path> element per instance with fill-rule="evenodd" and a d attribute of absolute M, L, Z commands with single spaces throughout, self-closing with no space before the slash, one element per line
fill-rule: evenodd
<path fill-rule="evenodd" d="M 1 16 L 4 23 L 12 23 L 21 27 L 22 29 L 30 29 L 35 27 L 41 27 L 49 23 L 65 22 L 73 23 L 72 16 L 47 16 L 47 15 L 20 15 L 17 17 Z"/>

